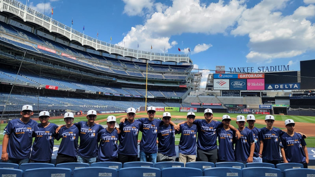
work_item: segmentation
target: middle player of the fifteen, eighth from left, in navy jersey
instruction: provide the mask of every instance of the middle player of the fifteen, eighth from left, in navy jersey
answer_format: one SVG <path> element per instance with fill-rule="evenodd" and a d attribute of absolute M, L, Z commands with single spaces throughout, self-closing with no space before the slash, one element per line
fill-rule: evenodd
<path fill-rule="evenodd" d="M 175 162 L 175 129 L 170 125 L 171 113 L 163 113 L 163 125 L 157 131 L 157 162 Z"/>

